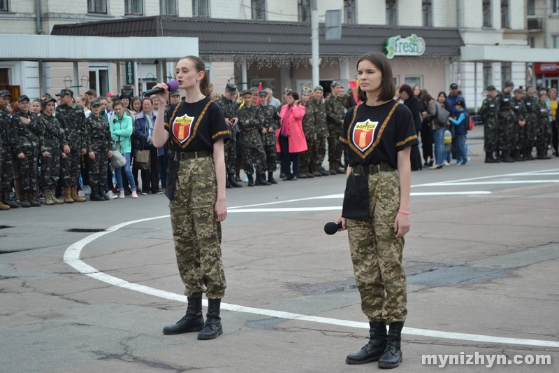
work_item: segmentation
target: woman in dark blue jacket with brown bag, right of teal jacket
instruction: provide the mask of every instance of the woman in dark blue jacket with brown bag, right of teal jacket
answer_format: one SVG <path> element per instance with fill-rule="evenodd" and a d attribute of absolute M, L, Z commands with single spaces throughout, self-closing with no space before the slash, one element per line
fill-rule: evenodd
<path fill-rule="evenodd" d="M 134 136 L 136 137 L 134 169 L 140 169 L 142 174 L 142 195 L 149 190 L 154 195 L 161 195 L 159 190 L 159 158 L 157 148 L 153 146 L 153 126 L 157 115 L 152 111 L 153 101 L 150 97 L 142 100 L 143 111 L 136 115 Z"/>

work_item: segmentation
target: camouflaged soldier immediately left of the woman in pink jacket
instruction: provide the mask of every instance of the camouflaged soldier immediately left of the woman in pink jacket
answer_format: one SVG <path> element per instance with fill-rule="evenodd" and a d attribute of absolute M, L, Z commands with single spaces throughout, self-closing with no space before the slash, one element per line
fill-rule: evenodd
<path fill-rule="evenodd" d="M 274 178 L 276 167 L 277 150 L 275 148 L 275 131 L 282 127 L 282 118 L 279 118 L 275 106 L 268 103 L 268 92 L 260 91 L 260 111 L 264 117 L 264 129 L 266 133 L 262 133 L 262 146 L 266 153 L 266 169 L 268 170 L 268 183 L 277 184 Z"/>

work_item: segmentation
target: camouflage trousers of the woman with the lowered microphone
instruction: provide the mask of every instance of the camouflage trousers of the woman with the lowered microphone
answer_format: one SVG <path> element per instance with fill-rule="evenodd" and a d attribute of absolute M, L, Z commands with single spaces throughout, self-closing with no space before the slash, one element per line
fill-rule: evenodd
<path fill-rule="evenodd" d="M 349 249 L 361 310 L 369 321 L 404 322 L 407 316 L 406 276 L 402 267 L 404 237 L 395 238 L 400 207 L 396 171 L 369 175 L 368 221 L 347 220 Z"/>

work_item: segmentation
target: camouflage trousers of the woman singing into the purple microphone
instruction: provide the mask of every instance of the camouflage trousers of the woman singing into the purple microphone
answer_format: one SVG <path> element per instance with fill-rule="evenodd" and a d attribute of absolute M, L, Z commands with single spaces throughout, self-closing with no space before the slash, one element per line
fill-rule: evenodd
<path fill-rule="evenodd" d="M 212 157 L 180 161 L 170 200 L 170 223 L 184 295 L 225 295 L 222 225 L 215 221 L 217 182 Z"/>

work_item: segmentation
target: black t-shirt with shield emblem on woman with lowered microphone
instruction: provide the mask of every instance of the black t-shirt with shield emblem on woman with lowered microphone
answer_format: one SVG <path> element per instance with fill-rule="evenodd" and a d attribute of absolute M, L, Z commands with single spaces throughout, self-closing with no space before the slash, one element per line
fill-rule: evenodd
<path fill-rule="evenodd" d="M 361 104 L 347 111 L 340 144 L 349 149 L 350 167 L 384 162 L 397 169 L 398 152 L 419 143 L 412 113 L 405 105 L 395 104 L 394 100 L 379 106 Z"/>

